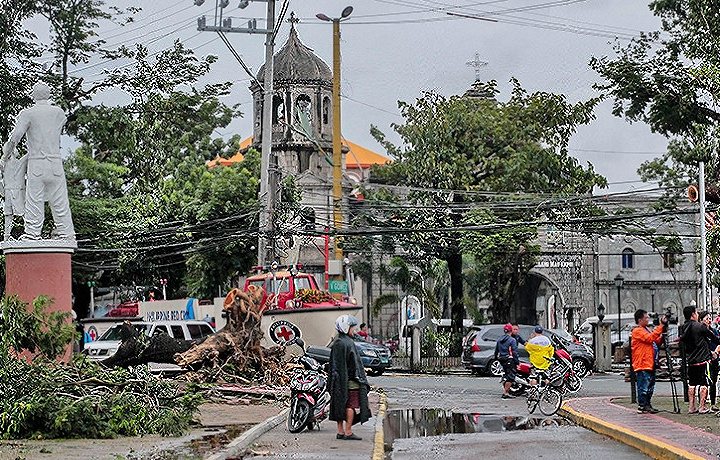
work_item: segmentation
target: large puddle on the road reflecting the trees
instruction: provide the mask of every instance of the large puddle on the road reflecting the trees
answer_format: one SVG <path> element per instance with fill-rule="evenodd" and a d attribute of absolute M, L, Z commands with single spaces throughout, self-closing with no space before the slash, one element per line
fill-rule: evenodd
<path fill-rule="evenodd" d="M 398 438 L 417 438 L 451 433 L 491 433 L 531 430 L 545 426 L 572 425 L 560 417 L 516 417 L 498 414 L 453 412 L 444 409 L 389 410 L 383 420 L 385 452 Z"/>

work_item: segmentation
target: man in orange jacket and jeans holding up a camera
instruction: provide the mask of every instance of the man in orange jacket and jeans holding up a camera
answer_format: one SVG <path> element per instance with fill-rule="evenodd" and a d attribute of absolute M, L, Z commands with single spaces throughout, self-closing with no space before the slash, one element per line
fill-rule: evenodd
<path fill-rule="evenodd" d="M 638 396 L 638 414 L 657 414 L 658 410 L 650 404 L 655 391 L 655 366 L 657 350 L 662 333 L 667 327 L 667 317 L 663 316 L 660 325 L 654 330 L 648 328 L 650 317 L 642 308 L 635 312 L 637 326 L 632 331 L 630 349 L 632 366 L 635 371 L 635 383 Z"/>

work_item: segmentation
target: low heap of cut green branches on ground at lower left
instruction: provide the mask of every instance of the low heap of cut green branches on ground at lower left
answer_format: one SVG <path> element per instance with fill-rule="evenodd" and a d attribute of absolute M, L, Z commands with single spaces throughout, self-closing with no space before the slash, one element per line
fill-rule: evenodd
<path fill-rule="evenodd" d="M 0 361 L 2 439 L 179 435 L 202 399 L 147 366 L 107 370 L 82 357 L 64 365 L 8 354 Z"/>

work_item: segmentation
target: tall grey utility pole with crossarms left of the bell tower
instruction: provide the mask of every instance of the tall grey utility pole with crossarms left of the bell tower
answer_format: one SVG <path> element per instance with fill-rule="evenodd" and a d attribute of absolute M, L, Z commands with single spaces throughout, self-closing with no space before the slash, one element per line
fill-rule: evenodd
<path fill-rule="evenodd" d="M 260 203 L 264 210 L 260 213 L 260 235 L 258 237 L 258 265 L 264 266 L 275 260 L 274 219 L 277 176 L 274 155 L 272 154 L 272 102 L 273 102 L 273 48 L 275 46 L 275 0 L 240 0 L 239 8 L 246 8 L 250 2 L 267 2 L 267 24 L 265 29 L 257 28 L 257 20 L 248 21 L 247 27 L 233 27 L 232 18 L 223 19 L 223 12 L 229 0 L 215 1 L 215 17 L 211 25 L 205 16 L 198 18 L 198 30 L 223 34 L 225 32 L 265 34 L 265 81 L 263 83 L 262 150 L 260 156 Z M 200 6 L 205 0 L 194 0 Z M 269 244 L 268 244 L 269 243 Z"/>

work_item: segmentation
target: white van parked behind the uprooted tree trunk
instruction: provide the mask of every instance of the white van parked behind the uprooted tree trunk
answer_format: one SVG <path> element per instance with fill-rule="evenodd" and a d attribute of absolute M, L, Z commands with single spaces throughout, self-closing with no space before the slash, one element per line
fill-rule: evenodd
<path fill-rule="evenodd" d="M 152 323 L 140 321 L 132 323 L 138 332 L 149 337 L 165 333 L 170 337 L 181 340 L 201 339 L 215 333 L 215 330 L 205 321 L 155 321 Z M 85 353 L 88 359 L 102 360 L 114 355 L 120 346 L 120 327 L 122 323 L 116 323 L 105 331 L 99 339 L 85 344 Z"/>

